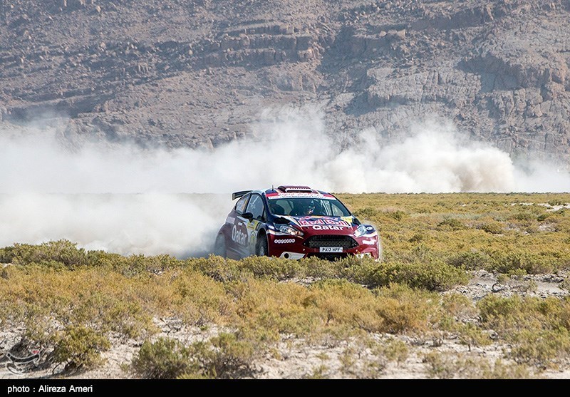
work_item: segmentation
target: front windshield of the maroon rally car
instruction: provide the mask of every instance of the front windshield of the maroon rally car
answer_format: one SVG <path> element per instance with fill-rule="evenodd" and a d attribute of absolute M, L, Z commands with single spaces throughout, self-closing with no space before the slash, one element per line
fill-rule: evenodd
<path fill-rule="evenodd" d="M 349 217 L 351 212 L 338 200 L 314 197 L 284 197 L 271 199 L 269 212 L 292 217 Z"/>

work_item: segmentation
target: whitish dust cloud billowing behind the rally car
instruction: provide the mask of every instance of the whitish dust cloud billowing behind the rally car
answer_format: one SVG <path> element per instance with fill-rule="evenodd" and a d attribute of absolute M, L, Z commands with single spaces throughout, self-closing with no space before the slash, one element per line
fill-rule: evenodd
<path fill-rule="evenodd" d="M 271 185 L 332 192 L 568 192 L 556 167 L 422 123 L 385 143 L 373 128 L 334 138 L 317 113 L 262 117 L 252 136 L 215 150 L 85 143 L 58 128 L 0 131 L 0 247 L 69 239 L 120 254 L 204 255 L 230 193 Z"/>

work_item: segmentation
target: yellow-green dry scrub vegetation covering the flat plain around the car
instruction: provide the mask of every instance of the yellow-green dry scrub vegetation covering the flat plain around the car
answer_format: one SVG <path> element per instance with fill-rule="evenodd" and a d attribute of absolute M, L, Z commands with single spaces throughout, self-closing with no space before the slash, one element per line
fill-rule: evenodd
<path fill-rule="evenodd" d="M 564 365 L 570 354 L 569 299 L 488 296 L 475 305 L 441 292 L 465 284 L 470 270 L 508 280 L 511 274 L 568 269 L 570 211 L 539 204 L 570 202 L 569 195 L 341 199 L 378 227 L 383 262 L 179 260 L 86 251 L 65 240 L 14 244 L 0 249 L 0 262 L 11 264 L 0 270 L 0 326 L 20 327 L 22 341 L 45 346 L 56 361 L 75 368 L 98 365 L 111 336 L 147 341 L 133 363 L 140 376 L 253 376 L 254 359 L 285 335 L 334 343 L 371 334 L 447 334 L 469 349 L 512 345 L 504 353 L 514 362 L 509 365 L 427 357 L 432 376 L 442 378 L 520 378 Z M 151 343 L 157 333 L 152 319 L 164 317 L 232 332 L 199 346 Z M 358 376 L 378 376 L 387 362 L 405 360 L 408 347 L 398 341 L 366 347 L 375 349 L 375 359 L 358 367 Z M 200 359 L 189 359 L 186 349 Z M 356 368 L 355 354 L 347 349 L 343 356 L 346 373 Z M 225 368 L 228 360 L 235 365 Z M 306 374 L 329 375 L 328 366 Z"/>

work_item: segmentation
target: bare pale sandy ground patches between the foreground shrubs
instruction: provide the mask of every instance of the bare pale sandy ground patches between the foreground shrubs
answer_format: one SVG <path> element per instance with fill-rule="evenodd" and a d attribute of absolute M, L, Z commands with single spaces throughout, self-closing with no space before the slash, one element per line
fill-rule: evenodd
<path fill-rule="evenodd" d="M 524 276 L 519 279 L 509 279 L 502 284 L 497 278 L 485 271 L 472 273 L 469 284 L 455 287 L 448 293 L 456 292 L 477 301 L 487 294 L 498 294 L 509 297 L 513 294 L 534 297 L 563 297 L 569 291 L 561 289 L 560 283 L 567 274 L 540 274 Z M 194 341 L 204 341 L 219 333 L 217 326 L 207 329 L 183 326 L 176 319 L 157 319 L 157 326 L 162 330 L 153 336 L 167 336 L 178 339 L 185 344 Z M 19 329 L 0 333 L 0 349 L 7 351 L 16 344 L 20 334 Z M 393 378 L 413 379 L 430 378 L 429 364 L 425 363 L 425 355 L 436 351 L 450 359 L 472 359 L 477 362 L 487 360 L 493 364 L 501 359 L 504 364 L 504 350 L 509 346 L 494 343 L 489 346 L 469 346 L 453 336 L 441 336 L 437 339 L 420 336 L 371 334 L 377 341 L 400 340 L 408 348 L 408 356 L 402 362 L 382 359 L 378 354 L 372 354 L 370 349 L 355 340 L 321 340 L 306 341 L 293 336 L 284 336 L 282 340 L 270 349 L 265 356 L 255 362 L 254 378 Z M 68 378 L 134 378 L 128 371 L 133 355 L 140 348 L 140 341 L 113 341 L 113 347 L 103 354 L 105 364 L 90 371 L 76 373 Z M 350 354 L 347 355 L 347 352 Z M 62 368 L 34 368 L 24 373 L 14 373 L 11 361 L 3 355 L 0 357 L 0 378 L 57 378 L 61 376 Z M 559 370 L 549 369 L 540 371 L 532 376 L 541 378 L 570 378 L 570 362 Z"/>

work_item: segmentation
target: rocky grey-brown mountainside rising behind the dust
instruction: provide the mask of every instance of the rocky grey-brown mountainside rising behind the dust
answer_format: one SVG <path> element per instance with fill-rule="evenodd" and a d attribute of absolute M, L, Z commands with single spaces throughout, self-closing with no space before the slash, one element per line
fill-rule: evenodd
<path fill-rule="evenodd" d="M 310 103 L 332 134 L 442 118 L 568 163 L 569 22 L 570 0 L 0 0 L 0 123 L 212 148 Z"/>

